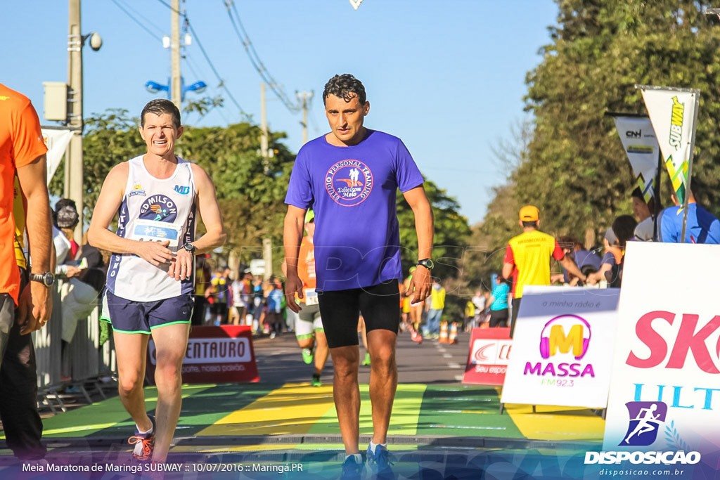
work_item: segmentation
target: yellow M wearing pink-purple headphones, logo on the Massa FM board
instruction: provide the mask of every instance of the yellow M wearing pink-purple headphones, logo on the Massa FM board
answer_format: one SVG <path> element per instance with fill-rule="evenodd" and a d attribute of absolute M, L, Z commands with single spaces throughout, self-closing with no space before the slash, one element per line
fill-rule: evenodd
<path fill-rule="evenodd" d="M 566 330 L 567 327 L 567 330 Z M 590 324 L 577 315 L 559 315 L 547 322 L 540 332 L 540 356 L 550 358 L 569 353 L 580 360 L 590 346 Z"/>

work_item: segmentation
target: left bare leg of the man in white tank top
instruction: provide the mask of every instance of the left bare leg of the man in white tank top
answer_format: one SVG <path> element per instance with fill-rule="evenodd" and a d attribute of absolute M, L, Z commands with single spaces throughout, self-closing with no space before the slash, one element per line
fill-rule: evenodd
<path fill-rule="evenodd" d="M 117 391 L 120 401 L 140 430 L 147 432 L 153 427 L 145 409 L 145 358 L 150 335 L 142 333 L 112 332 L 117 354 Z"/>

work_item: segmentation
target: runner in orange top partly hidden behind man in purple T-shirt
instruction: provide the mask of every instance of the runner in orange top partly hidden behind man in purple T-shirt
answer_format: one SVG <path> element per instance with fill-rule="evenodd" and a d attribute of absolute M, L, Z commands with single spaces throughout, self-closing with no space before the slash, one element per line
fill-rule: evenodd
<path fill-rule="evenodd" d="M 302 348 L 302 360 L 310 364 L 315 361 L 315 372 L 312 373 L 312 386 L 320 386 L 320 375 L 323 373 L 325 362 L 328 360 L 328 339 L 325 338 L 323 320 L 320 318 L 320 305 L 318 294 L 315 292 L 315 245 L 312 237 L 315 234 L 315 212 L 308 210 L 305 213 L 305 232 L 300 243 L 300 253 L 297 258 L 297 276 L 302 281 L 303 296 L 297 298 L 302 310 L 295 322 L 295 337 L 297 345 Z M 314 349 L 314 351 L 313 351 Z"/>

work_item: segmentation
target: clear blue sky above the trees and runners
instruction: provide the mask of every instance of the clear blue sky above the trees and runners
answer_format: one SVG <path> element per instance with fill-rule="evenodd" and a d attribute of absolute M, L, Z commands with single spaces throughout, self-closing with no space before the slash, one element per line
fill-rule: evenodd
<path fill-rule="evenodd" d="M 164 0 L 163 0 L 164 1 Z M 84 114 L 109 108 L 140 109 L 158 94 L 148 80 L 166 83 L 169 50 L 156 37 L 170 35 L 170 10 L 160 0 L 84 0 L 82 30 L 99 32 L 99 52 L 84 49 Z M 120 4 L 145 26 L 140 27 Z M 169 0 L 166 1 L 169 4 Z M 290 99 L 315 91 L 310 138 L 328 131 L 320 99 L 336 73 L 365 85 L 371 110 L 366 126 L 401 137 L 426 178 L 461 205 L 472 224 L 485 215 L 492 186 L 507 171 L 492 155 L 510 128 L 525 119 L 525 76 L 550 42 L 552 0 L 235 0 L 240 20 L 267 71 Z M 6 1 L 0 16 L 0 82 L 30 97 L 43 124 L 42 82 L 67 80 L 68 2 Z M 240 112 L 202 55 L 198 42 L 246 114 L 260 121 L 261 78 L 246 55 L 223 0 L 181 0 L 197 33 L 184 48 L 186 83 L 205 81 L 207 94 L 225 107 L 185 124 L 225 125 Z M 193 95 L 188 94 L 188 95 Z M 302 143 L 301 114 L 290 113 L 267 92 L 271 130 L 287 132 L 289 148 Z M 192 159 L 190 159 L 192 160 Z"/>

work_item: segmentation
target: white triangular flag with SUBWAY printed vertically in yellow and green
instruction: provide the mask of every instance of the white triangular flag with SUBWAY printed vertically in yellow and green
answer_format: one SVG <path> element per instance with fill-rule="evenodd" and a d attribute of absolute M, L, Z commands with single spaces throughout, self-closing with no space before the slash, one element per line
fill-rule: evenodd
<path fill-rule="evenodd" d="M 641 86 L 657 143 L 680 204 L 685 202 L 700 91 Z"/>

